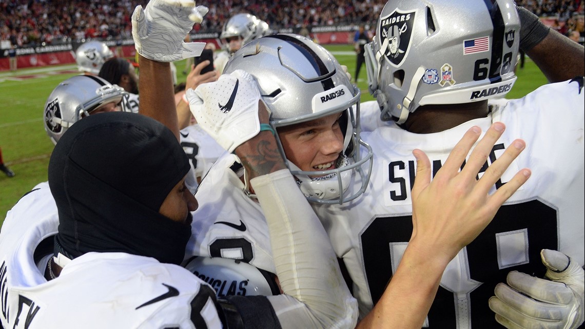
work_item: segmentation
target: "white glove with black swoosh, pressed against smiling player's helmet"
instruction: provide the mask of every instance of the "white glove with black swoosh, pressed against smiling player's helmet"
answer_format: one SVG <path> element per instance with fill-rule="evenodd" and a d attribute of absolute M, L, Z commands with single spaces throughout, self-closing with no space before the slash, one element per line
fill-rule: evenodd
<path fill-rule="evenodd" d="M 218 81 L 185 93 L 197 123 L 229 152 L 260 132 L 260 91 L 246 71 L 222 74 Z"/>

